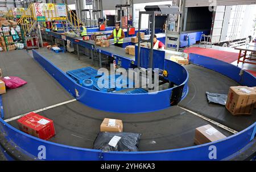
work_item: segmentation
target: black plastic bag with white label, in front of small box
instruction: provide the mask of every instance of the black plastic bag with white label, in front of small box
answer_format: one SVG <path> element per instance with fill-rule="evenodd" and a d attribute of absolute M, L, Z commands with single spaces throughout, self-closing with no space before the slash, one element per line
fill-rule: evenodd
<path fill-rule="evenodd" d="M 139 151 L 138 145 L 140 137 L 140 133 L 100 132 L 94 141 L 93 149 L 100 149 L 105 152 L 136 152 Z M 112 140 L 112 142 L 110 142 L 110 140 Z"/>

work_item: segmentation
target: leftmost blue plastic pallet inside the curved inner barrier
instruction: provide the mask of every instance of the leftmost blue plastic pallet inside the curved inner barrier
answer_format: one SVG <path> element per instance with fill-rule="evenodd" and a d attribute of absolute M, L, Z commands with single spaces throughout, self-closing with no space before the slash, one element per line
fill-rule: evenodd
<path fill-rule="evenodd" d="M 98 75 L 98 71 L 96 69 L 93 69 L 91 67 L 86 67 L 86 68 L 81 68 L 76 70 L 69 70 L 66 73 L 67 75 L 69 75 L 69 77 L 74 79 L 80 85 L 82 85 L 82 81 L 84 79 L 90 79 L 90 78 L 101 76 L 101 74 Z"/>

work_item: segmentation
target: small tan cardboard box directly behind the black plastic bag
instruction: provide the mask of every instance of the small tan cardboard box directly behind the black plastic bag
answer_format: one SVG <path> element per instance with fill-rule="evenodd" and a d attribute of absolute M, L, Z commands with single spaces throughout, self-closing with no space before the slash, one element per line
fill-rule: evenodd
<path fill-rule="evenodd" d="M 101 132 L 122 132 L 123 122 L 118 119 L 104 118 L 101 123 Z"/>

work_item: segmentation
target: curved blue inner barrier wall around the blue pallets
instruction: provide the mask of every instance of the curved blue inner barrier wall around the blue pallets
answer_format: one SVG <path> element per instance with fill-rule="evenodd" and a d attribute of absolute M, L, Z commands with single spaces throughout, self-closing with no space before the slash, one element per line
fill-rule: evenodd
<path fill-rule="evenodd" d="M 172 89 L 158 91 L 157 94 L 114 94 L 87 89 L 78 85 L 46 58 L 33 50 L 33 56 L 49 74 L 53 76 L 77 100 L 99 110 L 121 113 L 139 113 L 163 110 L 170 107 Z M 180 70 L 183 69 L 180 66 Z M 187 80 L 186 80 L 187 82 Z M 90 99 L 88 99 L 90 97 Z M 124 101 L 120 101 L 124 100 Z M 161 101 L 155 101 L 161 100 Z M 104 103 L 108 102 L 108 103 Z M 116 103 L 118 102 L 118 107 Z M 133 103 L 139 102 L 139 103 Z M 115 108 L 113 108 L 115 107 Z"/>

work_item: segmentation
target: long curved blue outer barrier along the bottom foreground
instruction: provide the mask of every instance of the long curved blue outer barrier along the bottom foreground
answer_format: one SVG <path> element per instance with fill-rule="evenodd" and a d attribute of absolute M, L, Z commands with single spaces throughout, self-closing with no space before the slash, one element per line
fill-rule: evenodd
<path fill-rule="evenodd" d="M 42 150 L 39 148 L 43 147 L 46 149 L 46 160 L 222 160 L 250 143 L 255 125 L 256 123 L 225 139 L 188 148 L 151 152 L 101 152 L 44 141 L 27 135 L 0 119 L 0 131 L 6 133 L 6 140 L 15 142 L 16 149 L 34 158 L 38 157 Z M 255 139 L 251 142 L 255 142 Z"/>

